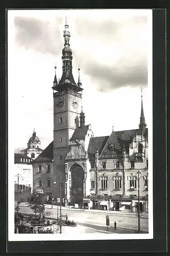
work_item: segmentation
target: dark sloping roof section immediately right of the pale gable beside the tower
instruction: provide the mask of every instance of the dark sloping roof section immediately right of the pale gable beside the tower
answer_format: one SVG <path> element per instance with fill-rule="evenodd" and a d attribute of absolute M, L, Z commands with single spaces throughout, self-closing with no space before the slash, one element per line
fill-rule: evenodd
<path fill-rule="evenodd" d="M 88 150 L 87 150 L 89 156 L 91 154 L 95 154 L 96 150 L 98 151 L 99 154 L 101 154 L 103 147 L 105 146 L 108 138 L 109 138 L 109 136 L 90 138 L 90 142 L 89 142 Z"/>

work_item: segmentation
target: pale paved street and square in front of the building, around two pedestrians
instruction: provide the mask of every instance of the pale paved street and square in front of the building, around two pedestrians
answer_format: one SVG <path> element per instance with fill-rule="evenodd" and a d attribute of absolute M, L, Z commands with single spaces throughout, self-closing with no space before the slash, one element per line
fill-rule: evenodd
<path fill-rule="evenodd" d="M 35 215 L 30 207 L 27 207 L 27 203 L 19 204 L 19 212 L 25 215 Z M 60 208 L 60 207 L 58 207 Z M 81 210 L 75 208 L 62 207 L 62 215 L 67 214 L 68 220 L 74 220 L 77 223 L 77 227 L 62 226 L 62 233 L 70 232 L 74 233 L 136 233 L 138 230 L 138 218 L 136 214 L 128 212 L 122 214 L 122 212 L 106 211 L 106 210 Z M 45 219 L 56 220 L 57 219 L 57 206 L 45 205 L 44 211 Z M 58 210 L 58 216 L 60 215 L 60 209 Z M 109 215 L 110 226 L 107 231 L 106 227 L 106 215 Z M 117 228 L 114 229 L 114 221 L 117 223 Z M 140 218 L 141 233 L 148 233 L 148 217 L 143 216 Z M 58 232 L 58 227 L 55 228 L 55 233 Z"/>

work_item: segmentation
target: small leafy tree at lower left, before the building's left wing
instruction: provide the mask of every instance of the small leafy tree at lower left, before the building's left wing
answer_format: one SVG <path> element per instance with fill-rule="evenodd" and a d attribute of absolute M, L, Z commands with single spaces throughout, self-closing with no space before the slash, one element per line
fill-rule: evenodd
<path fill-rule="evenodd" d="M 45 195 L 33 193 L 28 207 L 35 212 L 35 218 L 40 220 L 45 210 Z M 37 216 L 38 215 L 38 216 Z"/>

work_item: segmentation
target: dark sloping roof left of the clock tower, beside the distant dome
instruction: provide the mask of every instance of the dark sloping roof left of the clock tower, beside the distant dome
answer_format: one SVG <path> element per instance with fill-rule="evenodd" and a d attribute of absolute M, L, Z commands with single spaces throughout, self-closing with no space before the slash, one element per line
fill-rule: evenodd
<path fill-rule="evenodd" d="M 53 161 L 53 141 L 45 148 L 45 150 L 32 161 L 36 162 L 52 162 Z"/>

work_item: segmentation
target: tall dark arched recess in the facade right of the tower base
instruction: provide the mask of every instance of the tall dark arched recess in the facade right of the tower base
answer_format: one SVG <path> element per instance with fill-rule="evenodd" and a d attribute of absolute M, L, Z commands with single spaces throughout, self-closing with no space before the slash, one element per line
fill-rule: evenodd
<path fill-rule="evenodd" d="M 71 167 L 71 204 L 82 204 L 84 170 L 79 164 Z"/>

